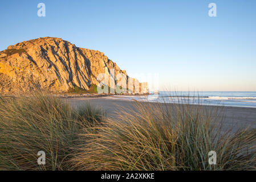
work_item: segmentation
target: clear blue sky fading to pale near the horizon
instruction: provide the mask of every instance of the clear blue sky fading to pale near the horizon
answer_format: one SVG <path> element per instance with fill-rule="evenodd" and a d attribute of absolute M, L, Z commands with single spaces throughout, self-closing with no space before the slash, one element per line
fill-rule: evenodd
<path fill-rule="evenodd" d="M 255 0 L 9 0 L 0 22 L 0 50 L 59 37 L 104 52 L 129 76 L 158 74 L 160 90 L 256 91 Z"/>

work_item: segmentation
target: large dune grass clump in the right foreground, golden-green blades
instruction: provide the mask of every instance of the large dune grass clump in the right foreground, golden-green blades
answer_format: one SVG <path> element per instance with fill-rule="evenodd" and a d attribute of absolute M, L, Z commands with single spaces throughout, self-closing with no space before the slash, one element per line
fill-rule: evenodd
<path fill-rule="evenodd" d="M 83 170 L 247 170 L 256 167 L 255 134 L 222 130 L 218 108 L 135 104 L 107 119 L 99 133 L 83 134 L 74 160 Z M 217 154 L 210 165 L 209 152 Z"/>

